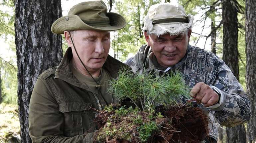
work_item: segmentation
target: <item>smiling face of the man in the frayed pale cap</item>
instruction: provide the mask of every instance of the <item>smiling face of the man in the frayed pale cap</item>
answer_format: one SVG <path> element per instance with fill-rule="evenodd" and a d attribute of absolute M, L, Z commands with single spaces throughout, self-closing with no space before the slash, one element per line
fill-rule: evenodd
<path fill-rule="evenodd" d="M 191 30 L 179 35 L 165 34 L 157 37 L 155 34 L 144 33 L 148 45 L 151 47 L 158 63 L 163 67 L 170 67 L 178 63 L 186 54 Z"/>

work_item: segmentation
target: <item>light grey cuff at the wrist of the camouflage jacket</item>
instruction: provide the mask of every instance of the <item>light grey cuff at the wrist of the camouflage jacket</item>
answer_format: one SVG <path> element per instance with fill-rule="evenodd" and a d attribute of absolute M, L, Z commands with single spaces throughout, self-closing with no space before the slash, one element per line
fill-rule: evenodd
<path fill-rule="evenodd" d="M 223 91 L 221 91 L 220 89 L 214 87 L 214 86 L 209 86 L 210 88 L 212 89 L 215 89 L 217 90 L 219 93 L 220 93 L 220 99 L 219 99 L 219 102 L 214 104 L 214 105 L 211 105 L 207 108 L 211 109 L 212 111 L 220 111 L 223 109 L 224 105 L 225 105 L 225 102 L 226 102 L 226 93 L 224 93 Z"/>

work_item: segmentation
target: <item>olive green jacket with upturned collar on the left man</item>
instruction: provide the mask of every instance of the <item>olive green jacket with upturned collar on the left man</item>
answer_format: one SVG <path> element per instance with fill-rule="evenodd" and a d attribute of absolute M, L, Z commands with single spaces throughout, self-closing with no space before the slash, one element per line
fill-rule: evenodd
<path fill-rule="evenodd" d="M 33 143 L 92 142 L 93 131 L 97 129 L 93 123 L 96 111 L 92 108 L 101 110 L 107 103 L 73 76 L 71 59 L 68 48 L 60 65 L 44 71 L 36 81 L 29 105 L 29 134 Z M 116 78 L 121 66 L 125 64 L 108 55 L 104 69 L 111 78 Z M 113 95 L 103 96 L 117 103 Z"/>

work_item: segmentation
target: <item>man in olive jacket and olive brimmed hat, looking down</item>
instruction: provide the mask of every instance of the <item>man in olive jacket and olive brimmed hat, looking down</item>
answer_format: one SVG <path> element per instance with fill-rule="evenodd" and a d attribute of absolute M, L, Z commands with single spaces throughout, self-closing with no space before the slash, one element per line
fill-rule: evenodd
<path fill-rule="evenodd" d="M 118 103 L 107 92 L 124 64 L 110 55 L 110 32 L 125 19 L 107 13 L 102 1 L 82 2 L 57 19 L 52 32 L 64 34 L 69 48 L 59 66 L 38 78 L 29 105 L 29 134 L 33 143 L 91 143 L 96 111 Z M 50 51 L 49 51 L 50 52 Z"/>

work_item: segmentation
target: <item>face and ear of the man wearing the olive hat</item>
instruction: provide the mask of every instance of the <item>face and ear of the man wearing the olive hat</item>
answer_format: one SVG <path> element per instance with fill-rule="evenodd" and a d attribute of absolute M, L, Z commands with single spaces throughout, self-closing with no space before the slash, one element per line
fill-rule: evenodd
<path fill-rule="evenodd" d="M 65 33 L 64 33 L 65 34 Z M 69 35 L 68 33 L 65 34 Z M 73 31 L 72 39 L 77 54 L 80 56 L 85 67 L 90 72 L 100 70 L 105 63 L 110 48 L 110 32 L 109 31 L 93 31 L 93 30 L 76 30 Z M 69 47 L 72 48 L 73 60 L 76 66 L 80 66 L 81 62 L 77 57 L 71 40 L 66 37 Z M 78 67 L 79 68 L 79 67 Z"/>

